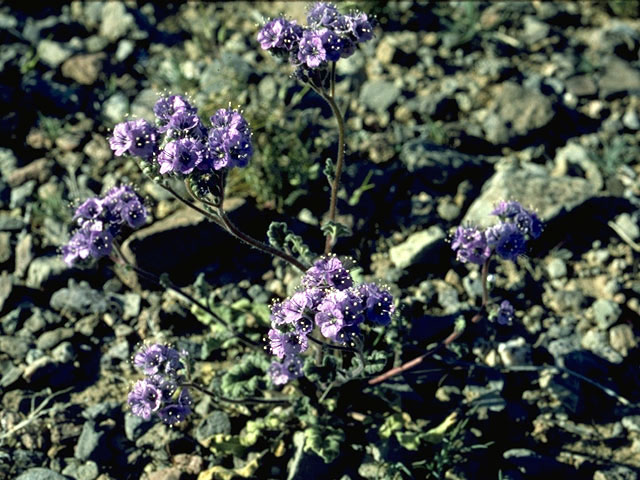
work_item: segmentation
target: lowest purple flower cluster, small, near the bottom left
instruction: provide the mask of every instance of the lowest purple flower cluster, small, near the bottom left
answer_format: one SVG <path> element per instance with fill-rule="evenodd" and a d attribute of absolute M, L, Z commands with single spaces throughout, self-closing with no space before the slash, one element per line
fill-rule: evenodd
<path fill-rule="evenodd" d="M 191 413 L 191 395 L 180 385 L 184 377 L 185 354 L 161 344 L 143 346 L 133 358 L 133 364 L 144 373 L 129 392 L 128 403 L 134 415 L 148 420 L 157 413 L 167 425 L 182 421 Z"/>

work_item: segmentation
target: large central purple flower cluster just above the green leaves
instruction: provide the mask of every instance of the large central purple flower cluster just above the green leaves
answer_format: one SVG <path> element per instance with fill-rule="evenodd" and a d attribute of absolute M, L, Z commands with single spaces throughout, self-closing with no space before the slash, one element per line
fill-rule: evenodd
<path fill-rule="evenodd" d="M 303 289 L 271 307 L 271 351 L 282 362 L 271 364 L 276 385 L 302 376 L 299 355 L 309 348 L 309 336 L 317 328 L 338 344 L 352 344 L 365 320 L 387 325 L 395 310 L 388 289 L 375 283 L 354 284 L 349 271 L 335 256 L 323 257 L 309 268 Z"/>

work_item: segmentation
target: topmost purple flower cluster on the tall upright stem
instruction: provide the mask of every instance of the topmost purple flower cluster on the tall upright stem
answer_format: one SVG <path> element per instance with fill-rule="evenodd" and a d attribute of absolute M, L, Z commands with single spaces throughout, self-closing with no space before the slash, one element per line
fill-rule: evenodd
<path fill-rule="evenodd" d="M 373 38 L 367 14 L 341 14 L 332 3 L 318 2 L 307 13 L 307 26 L 277 17 L 258 32 L 263 50 L 285 56 L 295 67 L 307 71 L 353 55 L 359 43 Z"/>

